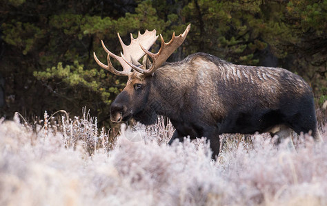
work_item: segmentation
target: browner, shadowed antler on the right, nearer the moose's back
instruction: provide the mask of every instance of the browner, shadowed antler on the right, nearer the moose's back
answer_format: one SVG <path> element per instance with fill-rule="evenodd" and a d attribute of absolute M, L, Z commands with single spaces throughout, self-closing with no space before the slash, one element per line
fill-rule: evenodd
<path fill-rule="evenodd" d="M 124 56 L 121 56 L 123 60 L 132 67 L 132 69 L 135 69 L 136 71 L 140 73 L 144 73 L 146 75 L 150 75 L 154 73 L 166 60 L 169 58 L 169 56 L 175 52 L 175 50 L 184 42 L 186 36 L 188 35 L 188 32 L 190 31 L 190 24 L 188 27 L 186 27 L 186 30 L 183 34 L 179 34 L 179 36 L 175 36 L 175 32 L 172 34 L 172 39 L 169 41 L 169 43 L 165 43 L 164 38 L 161 38 L 161 47 L 159 49 L 159 52 L 157 54 L 153 54 L 146 49 L 146 47 L 143 47 L 143 45 L 140 44 L 141 49 L 143 52 L 145 52 L 150 58 L 152 58 L 152 66 L 150 69 L 142 69 L 141 67 L 137 67 L 135 65 L 132 65 L 132 63 L 125 58 Z M 144 61 L 143 61 L 144 62 Z M 142 66 L 143 68 L 146 68 L 146 64 Z"/>

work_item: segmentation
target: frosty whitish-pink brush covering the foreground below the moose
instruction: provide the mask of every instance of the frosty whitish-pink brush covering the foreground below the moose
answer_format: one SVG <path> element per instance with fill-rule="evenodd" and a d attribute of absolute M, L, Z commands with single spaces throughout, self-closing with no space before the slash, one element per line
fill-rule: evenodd
<path fill-rule="evenodd" d="M 204 139 L 167 146 L 172 132 L 159 119 L 111 141 L 86 111 L 2 119 L 0 205 L 327 205 L 327 126 L 324 143 L 295 138 L 296 152 L 266 134 L 223 135 L 217 162 Z"/>

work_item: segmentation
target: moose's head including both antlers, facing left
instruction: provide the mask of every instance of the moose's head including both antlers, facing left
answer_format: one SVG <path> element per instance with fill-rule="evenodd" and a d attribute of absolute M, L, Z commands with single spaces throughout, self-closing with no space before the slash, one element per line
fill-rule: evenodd
<path fill-rule="evenodd" d="M 140 34 L 134 39 L 132 34 L 130 34 L 131 43 L 130 45 L 125 45 L 118 34 L 119 42 L 123 48 L 123 53 L 121 56 L 117 56 L 110 52 L 103 41 L 102 47 L 107 52 L 108 65 L 104 65 L 94 53 L 94 58 L 97 64 L 114 73 L 118 76 L 128 76 L 128 82 L 123 91 L 117 96 L 111 105 L 111 121 L 112 122 L 126 122 L 131 117 L 137 117 L 141 113 L 144 113 L 144 108 L 148 106 L 148 96 L 152 85 L 152 76 L 154 76 L 155 71 L 161 67 L 161 65 L 166 62 L 169 56 L 175 52 L 175 50 L 184 42 L 188 32 L 190 31 L 190 25 L 186 27 L 183 34 L 175 36 L 175 32 L 172 34 L 172 38 L 169 43 L 165 43 L 164 38 L 160 34 L 161 47 L 157 54 L 153 54 L 148 51 L 150 47 L 157 41 L 158 36 L 156 36 L 156 30 L 149 32 L 146 30 L 144 34 Z M 139 64 L 139 60 L 143 58 L 143 64 Z M 118 71 L 112 66 L 111 58 L 118 60 L 123 71 Z M 152 59 L 152 62 L 149 60 Z M 144 119 L 142 117 L 141 122 L 152 122 L 153 115 L 149 115 L 151 112 L 148 111 L 148 118 Z"/>

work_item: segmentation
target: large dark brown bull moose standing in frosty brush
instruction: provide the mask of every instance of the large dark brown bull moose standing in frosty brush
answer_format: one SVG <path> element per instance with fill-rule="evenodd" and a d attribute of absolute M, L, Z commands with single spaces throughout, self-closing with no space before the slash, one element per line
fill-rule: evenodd
<path fill-rule="evenodd" d="M 204 53 L 166 62 L 189 31 L 190 25 L 179 36 L 174 32 L 169 43 L 160 34 L 157 54 L 148 50 L 157 41 L 156 30 L 139 32 L 136 39 L 130 34 L 130 45 L 125 45 L 118 34 L 121 56 L 110 52 L 101 41 L 108 65 L 94 53 L 97 64 L 115 75 L 128 76 L 126 87 L 111 104 L 112 122 L 134 118 L 150 125 L 155 124 L 157 115 L 164 115 L 175 127 L 169 144 L 184 137 L 206 137 L 212 159 L 219 154 L 219 135 L 223 133 L 269 132 L 284 138 L 294 130 L 321 140 L 313 92 L 295 73 L 234 65 Z M 121 64 L 122 71 L 112 66 L 110 57 Z"/>

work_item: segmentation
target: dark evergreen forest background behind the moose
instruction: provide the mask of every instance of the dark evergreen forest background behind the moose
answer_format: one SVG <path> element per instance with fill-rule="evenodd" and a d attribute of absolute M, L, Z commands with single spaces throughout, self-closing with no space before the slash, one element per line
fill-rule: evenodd
<path fill-rule="evenodd" d="M 169 41 L 192 24 L 168 61 L 207 52 L 235 64 L 284 67 L 327 99 L 327 0 L 50 1 L 0 0 L 0 117 L 15 111 L 32 120 L 86 106 L 110 126 L 110 103 L 126 77 L 101 69 L 108 49 L 119 54 L 117 32 L 157 30 Z M 159 49 L 159 41 L 152 47 Z M 114 65 L 119 67 L 118 65 Z"/>

